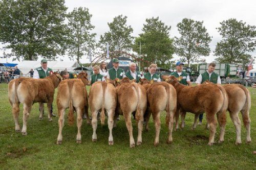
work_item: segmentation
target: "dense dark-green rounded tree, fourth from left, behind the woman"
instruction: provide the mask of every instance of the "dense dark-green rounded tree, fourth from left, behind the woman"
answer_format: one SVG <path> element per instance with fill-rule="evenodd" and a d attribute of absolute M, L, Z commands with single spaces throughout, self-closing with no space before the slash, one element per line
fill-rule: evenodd
<path fill-rule="evenodd" d="M 174 46 L 173 39 L 169 38 L 170 27 L 157 18 L 146 19 L 146 24 L 143 25 L 139 37 L 135 38 L 133 51 L 137 54 L 145 56 L 143 59 L 151 63 L 156 63 L 158 66 L 165 65 L 173 58 Z"/>

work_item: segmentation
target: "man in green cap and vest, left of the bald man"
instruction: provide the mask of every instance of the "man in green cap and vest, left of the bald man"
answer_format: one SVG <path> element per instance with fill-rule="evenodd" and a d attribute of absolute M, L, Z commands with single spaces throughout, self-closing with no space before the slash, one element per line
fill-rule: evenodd
<path fill-rule="evenodd" d="M 119 68 L 119 60 L 117 58 L 114 58 L 112 62 L 114 67 L 109 69 L 108 75 L 106 77 L 111 80 L 114 80 L 115 78 L 125 78 L 126 76 L 124 70 L 122 68 Z"/>

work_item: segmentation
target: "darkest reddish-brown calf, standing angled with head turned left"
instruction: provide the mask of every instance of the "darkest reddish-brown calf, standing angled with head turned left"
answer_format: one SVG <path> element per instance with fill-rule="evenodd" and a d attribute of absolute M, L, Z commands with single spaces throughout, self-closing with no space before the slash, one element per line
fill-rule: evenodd
<path fill-rule="evenodd" d="M 202 84 L 190 87 L 180 84 L 174 76 L 165 77 L 164 80 L 172 84 L 177 91 L 177 109 L 180 112 L 196 114 L 193 129 L 196 128 L 199 114 L 206 113 L 206 119 L 210 126 L 209 145 L 214 143 L 217 121 L 217 114 L 220 125 L 220 140 L 224 141 L 226 125 L 226 110 L 228 97 L 226 90 L 217 84 Z M 179 113 L 179 112 L 176 113 Z M 178 128 L 179 115 L 176 116 L 176 128 Z"/>

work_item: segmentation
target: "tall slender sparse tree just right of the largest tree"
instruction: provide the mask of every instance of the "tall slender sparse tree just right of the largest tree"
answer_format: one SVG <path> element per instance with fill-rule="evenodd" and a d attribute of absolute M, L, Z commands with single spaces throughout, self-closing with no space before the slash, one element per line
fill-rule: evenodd
<path fill-rule="evenodd" d="M 76 58 L 80 63 L 80 58 L 88 55 L 89 51 L 93 51 L 95 47 L 96 33 L 91 33 L 95 28 L 91 24 L 92 15 L 88 8 L 75 8 L 68 13 L 68 40 L 67 50 L 70 59 Z"/>

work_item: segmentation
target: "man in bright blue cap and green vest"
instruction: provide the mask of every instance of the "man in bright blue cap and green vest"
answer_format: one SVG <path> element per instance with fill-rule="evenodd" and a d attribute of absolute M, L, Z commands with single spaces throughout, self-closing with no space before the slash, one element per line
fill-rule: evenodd
<path fill-rule="evenodd" d="M 176 63 L 176 71 L 174 71 L 172 74 L 170 74 L 171 76 L 175 76 L 176 78 L 178 78 L 178 81 L 181 83 L 181 84 L 184 84 L 184 85 L 188 85 L 188 86 L 191 86 L 191 82 L 190 82 L 190 79 L 189 79 L 189 75 L 183 71 L 183 65 L 184 63 L 178 61 Z"/>

